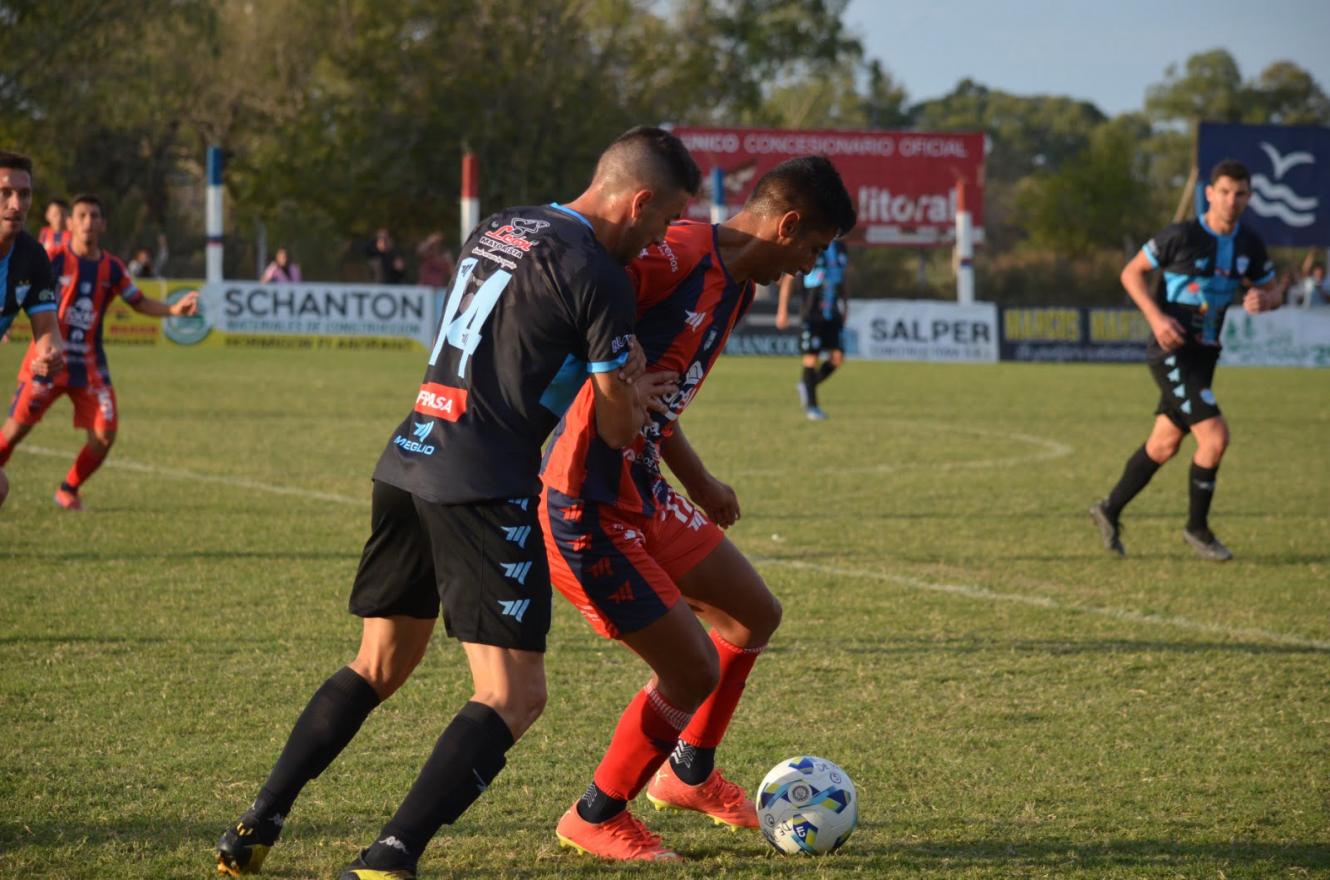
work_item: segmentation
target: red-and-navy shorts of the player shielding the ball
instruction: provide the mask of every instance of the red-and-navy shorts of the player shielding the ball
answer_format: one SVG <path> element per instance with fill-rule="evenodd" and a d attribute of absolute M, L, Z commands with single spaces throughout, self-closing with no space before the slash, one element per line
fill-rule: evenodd
<path fill-rule="evenodd" d="M 606 638 L 664 617 L 680 600 L 674 580 L 725 540 L 718 525 L 673 489 L 656 516 L 645 517 L 547 488 L 540 522 L 555 589 Z"/>

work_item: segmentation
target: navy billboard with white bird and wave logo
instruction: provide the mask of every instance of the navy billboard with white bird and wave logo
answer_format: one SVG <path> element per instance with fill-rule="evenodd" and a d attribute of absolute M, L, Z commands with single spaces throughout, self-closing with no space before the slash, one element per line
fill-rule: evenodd
<path fill-rule="evenodd" d="M 1201 182 L 1226 158 L 1252 171 L 1244 226 L 1266 245 L 1330 245 L 1330 128 L 1202 122 L 1196 149 Z"/>

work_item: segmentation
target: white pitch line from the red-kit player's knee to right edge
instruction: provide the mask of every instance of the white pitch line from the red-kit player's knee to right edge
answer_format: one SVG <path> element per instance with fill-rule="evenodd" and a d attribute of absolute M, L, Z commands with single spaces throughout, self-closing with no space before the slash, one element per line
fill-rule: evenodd
<path fill-rule="evenodd" d="M 802 560 L 782 560 L 777 557 L 761 557 L 761 556 L 751 556 L 749 558 L 755 565 L 785 565 L 794 569 L 803 569 L 806 572 L 817 572 L 819 574 L 835 574 L 838 577 L 858 577 L 874 581 L 886 581 L 887 584 L 906 586 L 912 590 L 946 593 L 948 596 L 962 596 L 964 598 L 980 600 L 986 602 L 1012 602 L 1015 605 L 1043 607 L 1051 611 L 1071 611 L 1075 614 L 1091 614 L 1095 617 L 1107 617 L 1116 621 L 1127 621 L 1129 623 L 1152 623 L 1157 626 L 1172 626 L 1176 629 L 1192 630 L 1194 633 L 1212 633 L 1214 635 L 1225 635 L 1233 639 L 1275 642 L 1278 645 L 1289 645 L 1290 647 L 1305 647 L 1317 651 L 1330 651 L 1330 642 L 1323 642 L 1314 638 L 1303 638 L 1301 635 L 1287 635 L 1285 633 L 1274 633 L 1271 630 L 1222 626 L 1220 623 L 1202 623 L 1200 621 L 1193 621 L 1186 617 L 1177 617 L 1172 614 L 1146 614 L 1144 611 L 1129 611 L 1125 609 L 1101 607 L 1097 605 L 1076 605 L 1073 602 L 1059 602 L 1057 600 L 1048 598 L 1047 596 L 1029 596 L 1027 593 L 999 593 L 996 590 L 990 590 L 986 586 L 972 586 L 968 584 L 934 584 L 932 581 L 923 581 L 920 578 L 908 577 L 906 574 L 890 574 L 887 572 L 870 572 L 866 569 L 849 569 L 834 565 L 821 565 L 818 562 L 805 562 Z"/>

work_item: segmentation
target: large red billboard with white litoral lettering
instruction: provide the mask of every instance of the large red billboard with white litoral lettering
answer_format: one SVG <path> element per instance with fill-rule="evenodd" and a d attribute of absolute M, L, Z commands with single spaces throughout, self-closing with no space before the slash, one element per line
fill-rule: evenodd
<path fill-rule="evenodd" d="M 766 171 L 795 156 L 826 156 L 845 179 L 859 211 L 849 241 L 858 245 L 951 246 L 956 230 L 956 182 L 975 241 L 983 241 L 984 136 L 982 132 L 794 132 L 678 126 L 704 171 L 690 217 L 706 219 L 710 170 L 721 169 L 725 203 L 737 209 Z"/>

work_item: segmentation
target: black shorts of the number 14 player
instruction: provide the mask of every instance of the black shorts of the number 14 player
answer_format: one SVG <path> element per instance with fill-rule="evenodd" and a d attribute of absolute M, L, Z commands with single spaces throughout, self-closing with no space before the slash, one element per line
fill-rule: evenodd
<path fill-rule="evenodd" d="M 376 480 L 351 613 L 431 619 L 442 602 L 452 638 L 544 651 L 552 593 L 539 506 L 434 504 Z"/>

